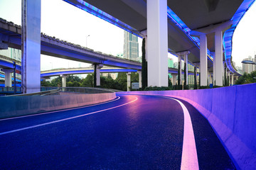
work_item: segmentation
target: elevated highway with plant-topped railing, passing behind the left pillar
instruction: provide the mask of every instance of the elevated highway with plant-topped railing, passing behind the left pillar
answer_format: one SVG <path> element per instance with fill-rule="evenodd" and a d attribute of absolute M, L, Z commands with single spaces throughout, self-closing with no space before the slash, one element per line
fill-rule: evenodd
<path fill-rule="evenodd" d="M 21 50 L 21 26 L 0 18 L 0 38 L 9 47 Z M 125 60 L 102 52 L 95 52 L 87 47 L 75 45 L 43 33 L 41 33 L 41 54 L 78 62 L 100 63 L 111 67 L 128 69 L 141 69 L 142 65 L 140 62 Z"/>

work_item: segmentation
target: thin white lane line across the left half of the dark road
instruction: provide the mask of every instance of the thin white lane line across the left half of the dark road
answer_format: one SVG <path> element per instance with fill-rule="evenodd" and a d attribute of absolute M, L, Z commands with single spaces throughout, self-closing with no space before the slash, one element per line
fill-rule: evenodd
<path fill-rule="evenodd" d="M 85 115 L 92 115 L 92 114 L 95 114 L 95 113 L 99 113 L 99 112 L 102 112 L 102 111 L 108 111 L 108 110 L 111 110 L 113 108 L 119 108 L 121 106 L 125 106 L 129 103 L 133 103 L 134 101 L 137 101 L 138 98 L 135 97 L 135 99 L 133 101 L 129 101 L 128 103 L 124 103 L 122 105 L 119 105 L 119 106 L 114 106 L 112 108 L 106 108 L 106 109 L 103 109 L 103 110 L 100 110 L 100 111 L 95 111 L 95 112 L 91 112 L 91 113 L 86 113 L 86 114 L 83 114 L 83 115 L 77 115 L 77 116 L 73 116 L 73 117 L 70 117 L 70 118 L 65 118 L 65 119 L 60 119 L 60 120 L 55 120 L 55 121 L 52 121 L 52 122 L 48 122 L 48 123 L 42 123 L 42 124 L 38 124 L 38 125 L 33 125 L 33 126 L 28 126 L 26 128 L 20 128 L 20 129 L 16 129 L 16 130 L 10 130 L 10 131 L 6 131 L 6 132 L 1 132 L 0 135 L 6 135 L 6 134 L 9 134 L 9 133 L 12 133 L 12 132 L 18 132 L 18 131 L 21 131 L 21 130 L 28 130 L 28 129 L 32 129 L 32 128 L 37 128 L 37 127 L 41 127 L 43 125 L 50 125 L 50 124 L 53 124 L 53 123 L 59 123 L 59 122 L 63 122 L 65 120 L 70 120 L 70 119 L 74 119 L 74 118 L 80 118 L 80 117 L 83 117 Z"/>

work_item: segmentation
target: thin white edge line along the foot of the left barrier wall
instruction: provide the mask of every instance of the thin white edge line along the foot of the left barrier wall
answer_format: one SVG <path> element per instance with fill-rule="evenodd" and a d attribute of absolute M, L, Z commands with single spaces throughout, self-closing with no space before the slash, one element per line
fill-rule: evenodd
<path fill-rule="evenodd" d="M 117 98 L 115 98 L 112 101 L 117 101 L 119 99 L 120 99 L 120 97 L 117 96 Z M 27 118 L 27 117 L 36 116 L 36 115 L 46 115 L 46 114 L 49 114 L 49 113 L 56 113 L 56 112 L 61 112 L 61 111 L 70 111 L 70 110 L 75 110 L 75 109 L 78 109 L 78 108 L 87 108 L 87 107 L 90 107 L 90 106 L 97 106 L 97 105 L 101 105 L 101 104 L 105 104 L 105 103 L 110 103 L 112 101 L 105 101 L 103 103 L 92 104 L 92 105 L 89 105 L 89 106 L 80 106 L 80 107 L 77 107 L 77 108 L 67 108 L 67 109 L 62 109 L 62 110 L 58 110 L 58 111 L 50 111 L 50 112 L 46 112 L 46 113 L 38 113 L 38 114 L 33 114 L 33 115 L 21 115 L 21 116 L 14 117 L 14 118 L 4 118 L 4 119 L 0 119 L 0 121 L 12 120 L 12 119 L 17 119 L 17 118 Z"/>

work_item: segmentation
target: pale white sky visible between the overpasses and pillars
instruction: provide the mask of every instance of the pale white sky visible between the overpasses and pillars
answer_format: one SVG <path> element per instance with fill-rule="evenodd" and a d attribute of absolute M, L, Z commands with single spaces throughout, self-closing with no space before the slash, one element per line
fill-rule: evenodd
<path fill-rule="evenodd" d="M 242 59 L 256 54 L 255 4 L 245 13 L 233 35 L 232 55 L 238 66 L 242 65 Z M 0 0 L 0 18 L 21 25 L 21 0 Z M 95 51 L 111 55 L 123 53 L 124 30 L 62 0 L 41 0 L 41 32 Z M 141 45 L 139 38 L 139 56 Z M 169 57 L 177 61 L 176 57 Z M 90 64 L 41 55 L 41 70 L 88 66 Z"/>

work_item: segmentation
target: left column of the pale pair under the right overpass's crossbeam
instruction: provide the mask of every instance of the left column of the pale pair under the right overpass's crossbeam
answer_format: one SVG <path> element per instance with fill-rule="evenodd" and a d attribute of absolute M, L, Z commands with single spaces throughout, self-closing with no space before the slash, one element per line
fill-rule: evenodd
<path fill-rule="evenodd" d="M 207 86 L 207 38 L 200 35 L 200 86 Z"/>

